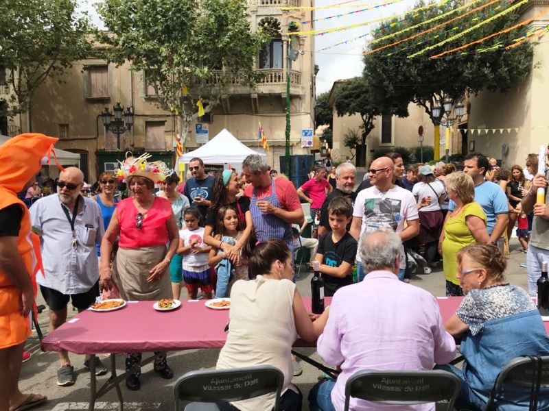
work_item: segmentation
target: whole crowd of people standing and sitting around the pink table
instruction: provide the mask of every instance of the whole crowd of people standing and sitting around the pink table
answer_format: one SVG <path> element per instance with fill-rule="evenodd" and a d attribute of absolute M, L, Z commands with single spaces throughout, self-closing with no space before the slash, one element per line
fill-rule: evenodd
<path fill-rule="evenodd" d="M 93 197 L 82 192 L 84 175 L 75 167 L 60 172 L 57 195 L 43 196 L 35 175 L 55 142 L 30 134 L 0 147 L 0 166 L 20 170 L 8 177 L 0 173 L 0 411 L 45 401 L 17 388 L 34 277 L 49 308 L 50 331 L 67 320 L 69 302 L 86 310 L 100 295 L 180 299 L 185 286 L 189 299 L 231 297 L 229 334 L 217 368 L 277 366 L 284 375 L 284 410 L 301 410 L 301 390 L 291 382 L 302 372 L 291 356 L 298 335 L 316 342 L 320 357 L 340 372 L 309 394 L 310 409 L 323 411 L 342 409 L 345 382 L 355 371 L 434 366 L 458 375 L 460 403 L 480 409 L 507 361 L 549 353 L 528 293 L 505 282 L 504 251 L 498 247 L 517 223 L 527 252 L 528 291 L 535 294 L 541 262 L 549 260 L 549 210 L 535 203 L 537 188 L 546 188 L 548 179 L 537 174 L 533 156 L 526 174 L 520 166 L 504 173 L 480 153 L 463 164 L 408 167 L 401 155 L 388 153 L 371 162 L 355 190 L 356 169 L 349 162 L 329 170 L 315 166 L 296 188 L 259 155 L 242 162 L 240 175 L 232 169 L 209 175 L 202 160 L 193 158 L 191 177 L 180 184 L 177 173 L 145 153 L 102 173 Z M 117 196 L 119 184 L 127 198 Z M 21 199 L 28 195 L 37 199 L 30 210 Z M 312 238 L 303 237 L 307 222 L 300 197 L 310 206 Z M 301 247 L 311 251 L 309 262 L 318 261 L 325 295 L 333 296 L 319 315 L 307 313 L 296 289 Z M 442 258 L 446 295 L 465 295 L 445 324 L 435 297 L 406 284 L 414 256 L 425 262 L 420 274 Z M 447 365 L 456 342 L 465 356 L 463 369 Z M 155 354 L 154 371 L 172 378 L 167 353 Z M 96 375 L 106 373 L 100 358 L 93 358 Z M 57 384 L 73 385 L 67 352 L 60 351 L 59 360 Z M 130 390 L 141 387 L 140 362 L 141 353 L 126 354 Z M 86 356 L 84 367 L 90 365 Z M 528 403 L 526 397 L 505 401 Z M 274 397 L 264 395 L 231 409 L 270 410 L 273 404 Z M 351 409 L 377 406 L 353 399 Z"/>

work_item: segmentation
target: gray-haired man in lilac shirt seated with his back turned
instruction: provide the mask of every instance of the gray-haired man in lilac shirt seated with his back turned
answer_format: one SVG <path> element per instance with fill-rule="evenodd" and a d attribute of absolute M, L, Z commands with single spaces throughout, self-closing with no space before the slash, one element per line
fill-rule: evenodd
<path fill-rule="evenodd" d="M 360 253 L 366 273 L 358 284 L 340 288 L 318 338 L 318 355 L 338 365 L 337 381 L 321 382 L 309 394 L 309 410 L 342 410 L 347 379 L 357 371 L 430 370 L 454 359 L 456 344 L 428 291 L 399 282 L 401 240 L 392 229 L 362 236 Z M 406 307 L 400 310 L 399 307 Z M 434 410 L 434 403 L 389 406 L 351 399 L 351 410 Z"/>

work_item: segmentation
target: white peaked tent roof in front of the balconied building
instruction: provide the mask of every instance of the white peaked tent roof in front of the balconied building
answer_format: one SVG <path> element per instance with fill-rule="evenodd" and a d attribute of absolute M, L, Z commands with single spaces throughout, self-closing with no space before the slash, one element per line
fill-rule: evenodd
<path fill-rule="evenodd" d="M 183 154 L 181 157 L 184 163 L 188 163 L 192 158 L 201 158 L 205 164 L 225 164 L 225 163 L 242 163 L 244 158 L 250 154 L 259 154 L 263 157 L 264 153 L 250 149 L 250 147 L 242 144 L 233 134 L 226 129 L 209 140 L 202 147 Z"/>

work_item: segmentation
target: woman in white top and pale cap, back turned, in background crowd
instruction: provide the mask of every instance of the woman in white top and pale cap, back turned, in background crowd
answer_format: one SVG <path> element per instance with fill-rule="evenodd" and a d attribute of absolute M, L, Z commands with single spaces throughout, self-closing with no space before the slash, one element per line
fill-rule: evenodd
<path fill-rule="evenodd" d="M 419 244 L 423 244 L 423 258 L 428 266 L 425 273 L 431 272 L 436 257 L 436 249 L 444 223 L 441 203 L 444 202 L 444 185 L 434 177 L 430 166 L 421 166 L 417 175 L 418 183 L 412 188 L 419 210 Z"/>

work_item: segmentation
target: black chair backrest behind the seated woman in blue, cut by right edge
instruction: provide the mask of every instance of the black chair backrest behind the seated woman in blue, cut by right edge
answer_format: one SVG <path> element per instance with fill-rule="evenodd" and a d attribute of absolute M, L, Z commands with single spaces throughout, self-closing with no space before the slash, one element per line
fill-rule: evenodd
<path fill-rule="evenodd" d="M 539 372 L 541 371 L 541 373 Z M 530 410 L 537 409 L 541 387 L 549 387 L 549 356 L 518 357 L 509 361 L 495 379 L 491 395 L 484 410 L 492 410 L 498 402 L 498 394 L 502 388 L 515 388 L 525 392 L 529 390 Z M 543 395 L 546 394 L 547 391 Z"/>

